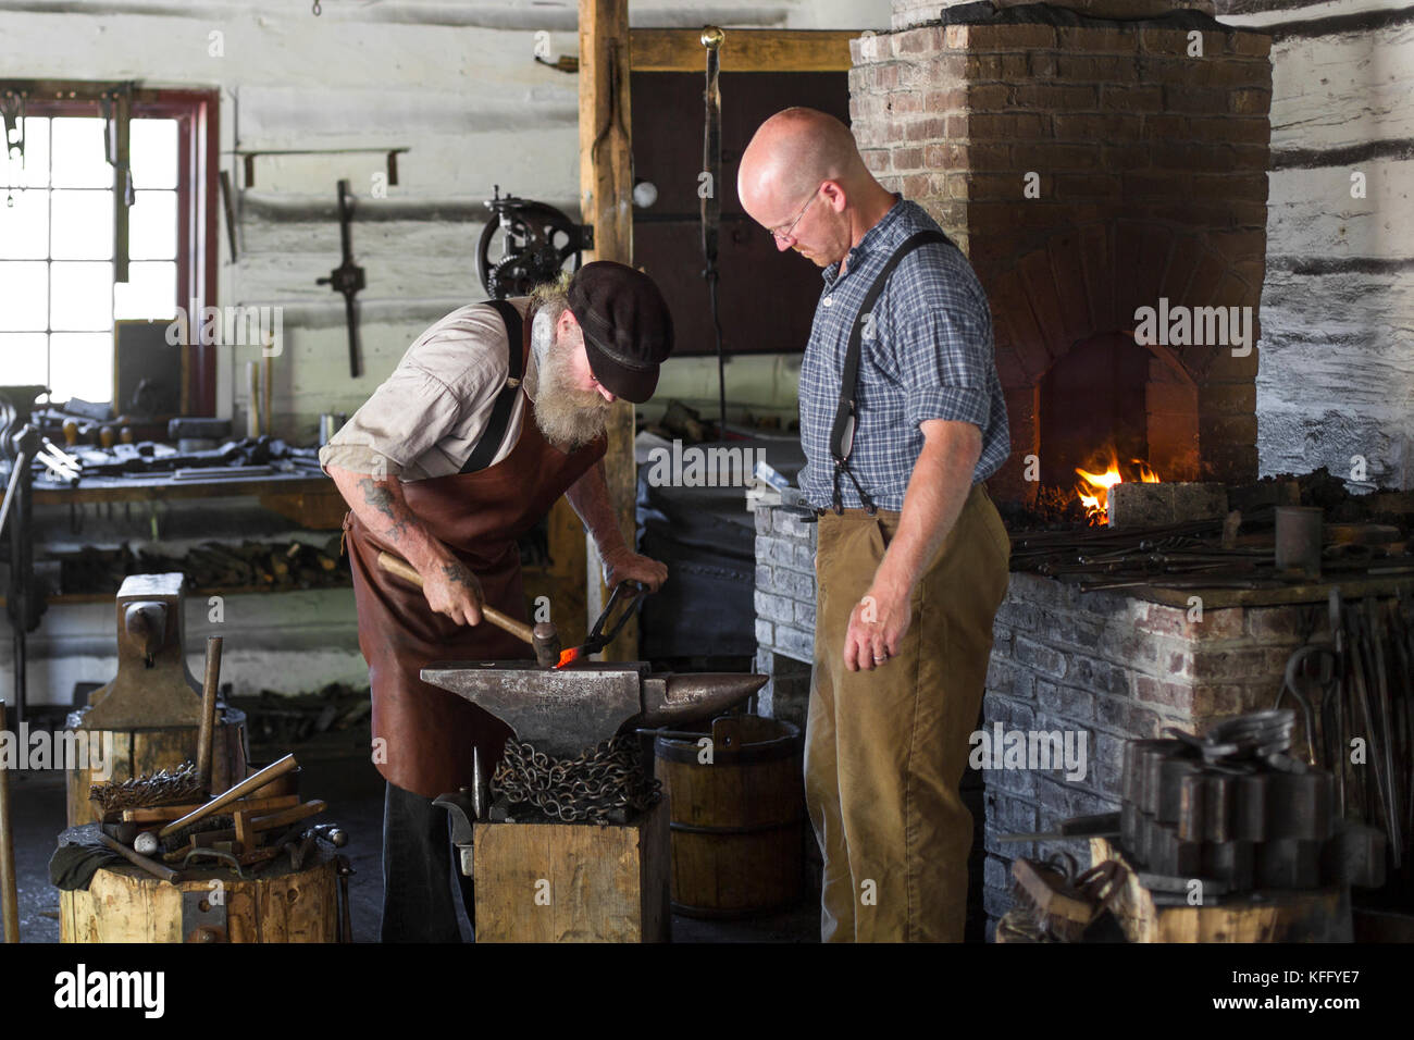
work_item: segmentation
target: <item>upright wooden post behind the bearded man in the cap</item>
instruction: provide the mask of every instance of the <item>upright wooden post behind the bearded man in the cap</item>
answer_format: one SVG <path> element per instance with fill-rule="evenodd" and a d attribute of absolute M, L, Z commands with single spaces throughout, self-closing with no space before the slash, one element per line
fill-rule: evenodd
<path fill-rule="evenodd" d="M 633 263 L 633 153 L 629 137 L 628 0 L 580 0 L 580 214 L 594 228 L 591 260 Z M 609 499 L 629 548 L 638 526 L 633 501 L 633 405 L 609 412 L 604 458 Z M 600 555 L 587 539 L 585 616 L 592 623 L 608 600 Z M 604 652 L 608 661 L 638 658 L 638 621 Z"/>

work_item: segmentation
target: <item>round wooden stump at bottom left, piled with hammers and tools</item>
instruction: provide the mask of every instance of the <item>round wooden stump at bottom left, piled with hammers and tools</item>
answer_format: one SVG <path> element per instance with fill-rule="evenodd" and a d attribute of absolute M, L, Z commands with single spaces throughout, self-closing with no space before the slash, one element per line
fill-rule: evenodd
<path fill-rule="evenodd" d="M 281 856 L 259 874 L 247 869 L 249 880 L 219 866 L 187 873 L 168 884 L 127 863 L 103 867 L 88 891 L 59 893 L 59 941 L 338 941 L 338 866 L 324 846 L 301 870 Z"/>

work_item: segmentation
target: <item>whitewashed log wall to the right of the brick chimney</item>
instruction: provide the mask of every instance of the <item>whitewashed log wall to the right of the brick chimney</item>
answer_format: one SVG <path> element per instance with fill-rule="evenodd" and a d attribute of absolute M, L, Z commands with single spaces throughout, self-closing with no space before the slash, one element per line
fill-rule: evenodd
<path fill-rule="evenodd" d="M 1394 11 L 1391 0 L 1223 16 L 1241 25 Z M 1278 38 L 1257 375 L 1263 474 L 1326 466 L 1414 487 L 1414 24 Z M 1380 154 L 1340 150 L 1381 143 Z M 1315 153 L 1315 154 L 1311 154 Z M 1322 158 L 1322 153 L 1329 157 Z M 1352 197 L 1352 174 L 1365 198 Z"/>

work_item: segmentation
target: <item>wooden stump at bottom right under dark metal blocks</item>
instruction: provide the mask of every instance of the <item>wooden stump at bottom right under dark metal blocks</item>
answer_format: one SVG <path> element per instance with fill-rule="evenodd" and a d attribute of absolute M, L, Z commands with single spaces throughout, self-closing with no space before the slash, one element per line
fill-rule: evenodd
<path fill-rule="evenodd" d="M 1267 890 L 1208 900 L 1203 906 L 1157 904 L 1124 853 L 1090 839 L 1090 862 L 1118 860 L 1127 872 L 1110 904 L 1130 942 L 1350 942 L 1349 889 Z"/>

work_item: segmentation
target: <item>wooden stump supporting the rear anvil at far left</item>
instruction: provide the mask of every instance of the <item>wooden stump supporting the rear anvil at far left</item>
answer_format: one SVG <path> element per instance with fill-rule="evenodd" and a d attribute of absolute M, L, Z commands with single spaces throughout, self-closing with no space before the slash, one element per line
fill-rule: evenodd
<path fill-rule="evenodd" d="M 66 729 L 74 736 L 85 736 L 90 754 L 82 761 L 71 761 L 68 770 L 68 822 L 69 826 L 92 824 L 98 819 L 89 804 L 89 787 L 112 780 L 122 782 L 133 777 L 170 770 L 184 761 L 197 761 L 197 727 L 163 726 L 157 729 L 132 730 L 89 730 L 81 729 L 83 712 L 69 712 Z M 93 754 L 106 754 L 112 740 L 110 775 L 95 778 Z M 99 764 L 102 768 L 102 763 Z M 235 787 L 246 778 L 246 713 L 235 707 L 222 707 L 216 715 L 216 730 L 211 756 L 211 790 L 215 792 Z"/>

